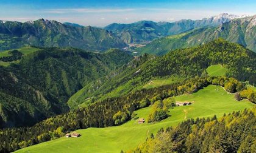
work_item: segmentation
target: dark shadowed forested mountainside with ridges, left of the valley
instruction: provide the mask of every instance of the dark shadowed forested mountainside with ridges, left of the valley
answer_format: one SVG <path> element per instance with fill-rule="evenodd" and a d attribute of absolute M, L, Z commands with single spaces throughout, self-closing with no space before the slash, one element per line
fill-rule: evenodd
<path fill-rule="evenodd" d="M 32 125 L 66 112 L 66 101 L 77 90 L 132 58 L 117 49 L 92 53 L 54 47 L 23 56 L 18 64 L 0 66 L 0 126 Z"/>

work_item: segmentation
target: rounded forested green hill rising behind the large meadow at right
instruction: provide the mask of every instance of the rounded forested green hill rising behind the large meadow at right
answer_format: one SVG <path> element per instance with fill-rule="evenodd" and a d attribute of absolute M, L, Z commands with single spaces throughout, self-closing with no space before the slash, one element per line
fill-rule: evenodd
<path fill-rule="evenodd" d="M 81 104 L 91 97 L 100 97 L 101 100 L 117 97 L 142 89 L 156 78 L 176 77 L 186 80 L 205 76 L 206 69 L 215 64 L 227 69 L 227 77 L 256 83 L 256 53 L 224 39 L 216 39 L 202 46 L 174 50 L 165 56 L 143 55 L 122 67 L 115 77 L 99 78 L 88 84 L 69 101 Z"/>

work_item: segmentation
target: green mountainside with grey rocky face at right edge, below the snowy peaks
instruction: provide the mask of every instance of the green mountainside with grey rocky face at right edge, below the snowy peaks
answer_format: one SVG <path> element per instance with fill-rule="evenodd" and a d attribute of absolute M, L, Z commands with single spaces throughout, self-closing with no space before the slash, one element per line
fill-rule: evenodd
<path fill-rule="evenodd" d="M 256 15 L 233 19 L 218 27 L 203 27 L 179 35 L 156 39 L 147 46 L 138 48 L 137 52 L 164 55 L 169 50 L 203 44 L 216 38 L 236 42 L 256 52 Z"/>

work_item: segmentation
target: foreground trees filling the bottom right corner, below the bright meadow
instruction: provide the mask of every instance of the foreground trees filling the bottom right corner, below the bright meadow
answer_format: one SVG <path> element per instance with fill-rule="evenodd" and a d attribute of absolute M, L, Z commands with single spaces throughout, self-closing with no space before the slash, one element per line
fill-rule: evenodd
<path fill-rule="evenodd" d="M 160 129 L 129 152 L 255 152 L 256 109 L 196 118 Z"/>

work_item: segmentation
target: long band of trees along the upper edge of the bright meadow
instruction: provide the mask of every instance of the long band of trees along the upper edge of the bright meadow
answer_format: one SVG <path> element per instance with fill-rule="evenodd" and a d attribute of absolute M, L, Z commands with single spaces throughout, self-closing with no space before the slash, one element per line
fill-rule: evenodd
<path fill-rule="evenodd" d="M 130 120 L 134 110 L 154 104 L 158 100 L 165 101 L 169 97 L 196 92 L 209 84 L 224 86 L 230 92 L 244 92 L 246 90 L 244 83 L 226 77 L 193 78 L 182 83 L 142 89 L 132 94 L 107 98 L 87 107 L 48 118 L 32 127 L 2 129 L 0 130 L 0 141 L 3 143 L 0 145 L 0 151 L 15 151 L 26 146 L 62 137 L 66 132 L 76 129 L 123 124 Z M 255 103 L 256 92 L 247 93 L 252 95 L 251 101 Z M 145 104 L 145 101 L 149 103 Z"/>

